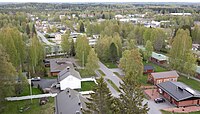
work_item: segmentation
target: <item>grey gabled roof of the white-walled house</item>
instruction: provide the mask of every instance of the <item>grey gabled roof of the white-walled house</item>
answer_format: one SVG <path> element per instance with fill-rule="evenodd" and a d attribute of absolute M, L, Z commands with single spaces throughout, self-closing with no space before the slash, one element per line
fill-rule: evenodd
<path fill-rule="evenodd" d="M 74 76 L 78 79 L 81 79 L 81 76 L 80 76 L 78 71 L 74 70 L 73 68 L 66 67 L 64 70 L 59 72 L 58 81 L 61 81 L 61 80 L 65 79 L 66 77 L 70 76 L 70 75 L 72 75 L 72 76 Z"/>

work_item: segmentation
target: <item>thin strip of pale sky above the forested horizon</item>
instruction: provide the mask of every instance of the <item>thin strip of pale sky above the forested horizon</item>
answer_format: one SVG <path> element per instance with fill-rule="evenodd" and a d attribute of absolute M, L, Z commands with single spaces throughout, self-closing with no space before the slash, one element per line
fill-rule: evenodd
<path fill-rule="evenodd" d="M 0 2 L 199 2 L 200 0 L 0 0 Z"/>

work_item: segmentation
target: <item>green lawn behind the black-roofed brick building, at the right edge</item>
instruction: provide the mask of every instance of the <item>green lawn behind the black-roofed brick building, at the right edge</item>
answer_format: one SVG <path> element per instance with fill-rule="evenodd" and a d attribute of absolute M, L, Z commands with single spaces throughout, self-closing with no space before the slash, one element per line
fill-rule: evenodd
<path fill-rule="evenodd" d="M 178 81 L 185 83 L 186 85 L 190 86 L 191 88 L 200 91 L 200 82 L 193 80 L 193 79 L 188 79 L 185 76 L 180 76 L 178 77 Z"/>

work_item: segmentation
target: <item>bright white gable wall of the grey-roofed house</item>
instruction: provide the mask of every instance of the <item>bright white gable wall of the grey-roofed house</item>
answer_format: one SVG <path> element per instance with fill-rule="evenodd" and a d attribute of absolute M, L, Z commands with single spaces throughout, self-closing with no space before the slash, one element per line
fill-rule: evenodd
<path fill-rule="evenodd" d="M 66 88 L 70 89 L 80 89 L 81 88 L 81 80 L 70 75 L 67 78 L 60 81 L 60 89 L 65 90 Z"/>

